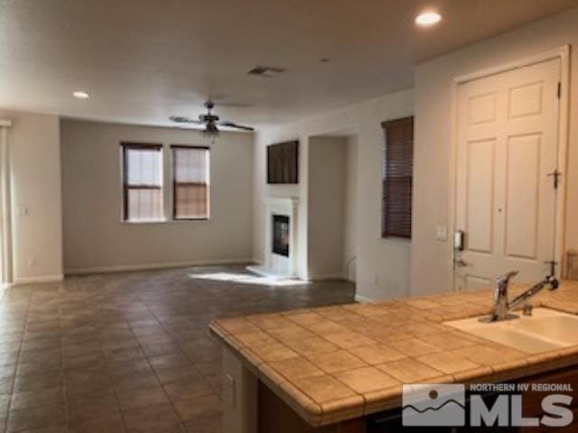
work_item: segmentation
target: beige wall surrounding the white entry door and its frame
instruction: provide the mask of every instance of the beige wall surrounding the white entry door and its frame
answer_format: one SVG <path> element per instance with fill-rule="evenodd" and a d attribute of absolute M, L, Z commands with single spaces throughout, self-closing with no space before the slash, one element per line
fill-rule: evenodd
<path fill-rule="evenodd" d="M 531 57 L 564 44 L 578 46 L 578 8 L 429 61 L 415 73 L 415 179 L 412 293 L 452 287 L 452 244 L 435 240 L 448 225 L 453 166 L 452 80 L 462 74 Z M 575 54 L 575 53 L 574 53 Z M 572 56 L 570 143 L 567 170 L 567 248 L 578 247 L 578 56 Z"/>

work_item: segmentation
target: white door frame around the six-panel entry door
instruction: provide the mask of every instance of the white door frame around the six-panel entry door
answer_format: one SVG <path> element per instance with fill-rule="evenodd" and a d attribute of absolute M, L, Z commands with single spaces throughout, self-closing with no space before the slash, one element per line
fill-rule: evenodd
<path fill-rule="evenodd" d="M 562 171 L 560 183 L 558 186 L 558 195 L 556 197 L 556 215 L 555 215 L 555 258 L 559 263 L 556 270 L 556 276 L 560 277 L 565 273 L 564 263 L 564 234 L 565 234 L 565 205 L 566 205 L 566 179 L 567 179 L 567 152 L 568 152 L 568 128 L 569 128 L 569 104 L 570 104 L 570 45 L 563 45 L 551 51 L 545 51 L 535 56 L 527 57 L 520 60 L 514 60 L 496 67 L 480 69 L 479 71 L 460 75 L 453 78 L 452 82 L 452 139 L 450 143 L 450 194 L 449 194 L 449 209 L 448 216 L 450 217 L 449 226 L 452 227 L 452 232 L 456 230 L 456 201 L 457 201 L 457 150 L 458 150 L 458 89 L 461 84 L 473 81 L 480 78 L 489 77 L 491 75 L 508 72 L 509 70 L 523 68 L 542 63 L 547 60 L 560 60 L 560 83 L 562 85 L 560 94 L 560 109 L 558 112 L 558 149 L 557 149 L 557 166 L 558 170 Z M 451 236 L 453 239 L 453 236 Z M 456 290 L 455 271 L 453 264 L 453 243 L 448 245 L 450 248 L 450 272 L 452 281 L 452 290 Z M 564 271 L 564 272 L 563 272 Z"/>

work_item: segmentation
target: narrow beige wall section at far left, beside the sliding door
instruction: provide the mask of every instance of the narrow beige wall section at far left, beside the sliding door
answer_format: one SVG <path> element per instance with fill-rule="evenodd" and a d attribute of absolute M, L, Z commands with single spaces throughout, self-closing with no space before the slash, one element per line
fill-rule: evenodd
<path fill-rule="evenodd" d="M 11 154 L 14 282 L 62 277 L 61 152 L 55 115 L 5 115 Z"/>

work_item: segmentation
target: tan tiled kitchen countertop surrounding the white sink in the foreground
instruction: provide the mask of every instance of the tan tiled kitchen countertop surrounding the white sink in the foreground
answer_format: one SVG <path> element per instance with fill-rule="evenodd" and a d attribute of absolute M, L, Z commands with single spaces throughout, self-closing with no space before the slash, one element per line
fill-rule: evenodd
<path fill-rule="evenodd" d="M 512 285 L 510 297 L 524 286 Z M 446 327 L 487 314 L 491 290 L 224 318 L 214 336 L 312 426 L 401 406 L 404 382 L 504 382 L 578 364 L 578 345 L 529 355 Z M 532 299 L 578 314 L 578 281 Z"/>

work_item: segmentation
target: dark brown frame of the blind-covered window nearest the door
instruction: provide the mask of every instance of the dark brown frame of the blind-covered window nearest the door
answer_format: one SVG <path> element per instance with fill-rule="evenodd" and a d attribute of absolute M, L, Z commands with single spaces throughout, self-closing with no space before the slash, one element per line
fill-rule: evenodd
<path fill-rule="evenodd" d="M 411 127 L 412 127 L 412 149 L 411 149 L 411 176 L 405 176 L 406 178 L 409 178 L 410 180 L 410 185 L 411 185 L 411 189 L 410 189 L 410 205 L 409 205 L 409 226 L 410 226 L 410 232 L 409 235 L 406 234 L 401 234 L 401 233 L 393 233 L 388 231 L 387 229 L 387 216 L 388 216 L 388 210 L 387 210 L 387 204 L 388 204 L 388 199 L 387 199 L 387 193 L 386 193 L 386 189 L 387 189 L 387 160 L 388 160 L 388 145 L 387 145 L 387 128 L 391 127 L 391 125 L 393 124 L 400 124 L 400 123 L 406 123 L 406 122 L 410 122 Z M 413 226 L 413 208 L 414 208 L 414 203 L 413 203 L 413 184 L 414 184 L 414 156 L 415 156 L 415 116 L 414 115 L 408 115 L 406 117 L 400 117 L 400 118 L 396 118 L 396 119 L 391 119 L 391 120 L 387 120 L 381 123 L 381 128 L 382 128 L 382 132 L 383 132 L 383 154 L 382 154 L 382 173 L 381 173 L 381 238 L 382 239 L 386 239 L 386 240 L 397 240 L 397 241 L 406 241 L 406 242 L 411 242 L 412 240 L 412 229 L 411 227 Z"/>

